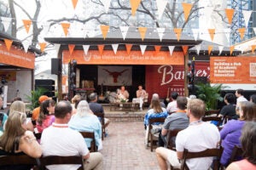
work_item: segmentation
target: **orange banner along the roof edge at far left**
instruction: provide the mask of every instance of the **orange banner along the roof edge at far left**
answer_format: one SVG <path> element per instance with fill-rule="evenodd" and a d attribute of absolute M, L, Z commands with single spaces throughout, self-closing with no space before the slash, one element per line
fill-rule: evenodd
<path fill-rule="evenodd" d="M 28 69 L 34 69 L 35 55 L 24 50 L 18 50 L 12 46 L 9 51 L 6 50 L 5 43 L 0 42 L 0 63 L 15 65 Z"/>

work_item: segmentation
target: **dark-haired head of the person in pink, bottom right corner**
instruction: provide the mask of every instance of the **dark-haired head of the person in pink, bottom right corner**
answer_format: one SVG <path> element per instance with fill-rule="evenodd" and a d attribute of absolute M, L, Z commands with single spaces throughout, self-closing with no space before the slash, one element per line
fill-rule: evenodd
<path fill-rule="evenodd" d="M 246 122 L 241 131 L 243 156 L 256 165 L 256 122 Z"/>

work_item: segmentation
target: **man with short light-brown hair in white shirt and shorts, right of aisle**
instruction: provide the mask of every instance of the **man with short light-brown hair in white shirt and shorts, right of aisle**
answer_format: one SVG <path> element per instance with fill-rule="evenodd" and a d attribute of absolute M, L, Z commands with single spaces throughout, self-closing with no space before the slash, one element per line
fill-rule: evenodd
<path fill-rule="evenodd" d="M 201 99 L 190 99 L 188 102 L 187 115 L 189 127 L 177 133 L 176 150 L 168 150 L 163 147 L 156 149 L 156 156 L 161 170 L 168 169 L 166 161 L 172 167 L 180 167 L 183 159 L 183 150 L 198 152 L 216 148 L 219 141 L 218 128 L 211 123 L 202 122 L 206 106 Z M 208 169 L 212 164 L 212 157 L 189 159 L 186 161 L 189 169 Z"/>

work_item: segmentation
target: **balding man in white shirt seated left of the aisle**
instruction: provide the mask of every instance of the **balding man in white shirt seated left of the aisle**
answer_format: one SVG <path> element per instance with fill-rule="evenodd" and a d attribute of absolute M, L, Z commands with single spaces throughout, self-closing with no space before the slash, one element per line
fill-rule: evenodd
<path fill-rule="evenodd" d="M 84 170 L 102 170 L 102 154 L 90 153 L 81 133 L 68 127 L 72 106 L 62 100 L 55 105 L 55 122 L 44 129 L 41 137 L 43 156 L 83 156 Z M 75 169 L 79 165 L 53 165 L 50 169 Z"/>

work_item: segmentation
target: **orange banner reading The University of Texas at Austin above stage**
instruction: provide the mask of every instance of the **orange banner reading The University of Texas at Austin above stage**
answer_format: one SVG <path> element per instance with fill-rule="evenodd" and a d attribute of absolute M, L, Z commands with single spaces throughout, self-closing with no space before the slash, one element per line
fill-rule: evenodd
<path fill-rule="evenodd" d="M 69 51 L 63 51 L 63 63 L 69 61 Z M 160 51 L 155 55 L 154 51 L 117 51 L 104 50 L 100 54 L 98 50 L 90 50 L 84 54 L 83 50 L 74 50 L 72 58 L 76 59 L 79 65 L 184 65 L 184 54 L 182 51 L 173 52 L 172 56 L 169 51 Z"/>

